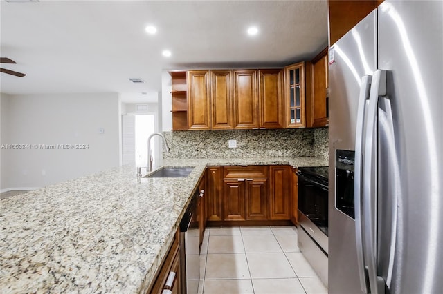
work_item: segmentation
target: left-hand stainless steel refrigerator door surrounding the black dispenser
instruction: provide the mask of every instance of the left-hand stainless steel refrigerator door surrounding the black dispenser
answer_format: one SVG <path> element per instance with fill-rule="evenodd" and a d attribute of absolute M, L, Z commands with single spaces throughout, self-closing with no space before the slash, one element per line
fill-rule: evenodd
<path fill-rule="evenodd" d="M 362 293 L 355 221 L 336 208 L 336 150 L 354 150 L 362 77 L 376 70 L 377 12 L 330 49 L 329 65 L 329 293 Z M 332 52 L 333 51 L 333 52 Z M 364 79 L 363 79 L 364 80 Z"/>

